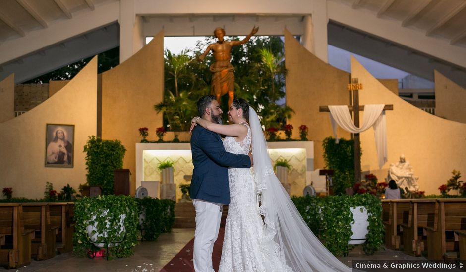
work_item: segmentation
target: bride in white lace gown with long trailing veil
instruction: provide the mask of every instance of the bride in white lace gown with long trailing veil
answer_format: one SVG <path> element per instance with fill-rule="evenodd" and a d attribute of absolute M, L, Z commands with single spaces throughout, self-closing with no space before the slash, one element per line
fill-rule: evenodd
<path fill-rule="evenodd" d="M 314 236 L 275 176 L 254 109 L 234 99 L 228 117 L 233 124 L 192 119 L 193 125 L 226 135 L 228 152 L 248 154 L 252 148 L 253 173 L 228 169 L 231 202 L 219 272 L 351 271 Z"/>

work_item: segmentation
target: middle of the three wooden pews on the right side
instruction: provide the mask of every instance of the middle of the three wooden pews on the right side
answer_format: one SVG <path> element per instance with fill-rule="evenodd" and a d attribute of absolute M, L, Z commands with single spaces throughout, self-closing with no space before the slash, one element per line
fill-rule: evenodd
<path fill-rule="evenodd" d="M 403 252 L 420 256 L 427 248 L 422 227 L 434 226 L 435 199 L 411 199 L 409 203 L 408 222 L 403 223 Z"/>

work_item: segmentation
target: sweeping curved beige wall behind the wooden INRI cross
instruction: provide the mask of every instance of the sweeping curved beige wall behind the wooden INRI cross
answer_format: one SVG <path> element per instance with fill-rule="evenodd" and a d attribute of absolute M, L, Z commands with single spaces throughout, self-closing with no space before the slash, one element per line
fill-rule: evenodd
<path fill-rule="evenodd" d="M 351 74 L 364 84 L 365 90 L 359 92 L 361 104 L 394 107 L 386 112 L 388 162 L 382 170 L 377 166 L 372 128 L 361 133 L 361 165 L 370 169 L 379 181 L 387 176 L 390 163 L 396 163 L 401 154 L 410 161 L 419 177 L 419 189 L 426 194 L 439 194 L 438 187 L 446 183 L 453 169 L 466 173 L 466 124 L 439 118 L 405 102 L 372 77 L 354 57 Z"/>

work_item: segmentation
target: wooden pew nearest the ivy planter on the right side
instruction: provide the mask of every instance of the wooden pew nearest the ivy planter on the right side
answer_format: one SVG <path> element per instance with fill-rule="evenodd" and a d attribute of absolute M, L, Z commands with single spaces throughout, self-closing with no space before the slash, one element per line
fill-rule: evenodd
<path fill-rule="evenodd" d="M 400 225 L 408 221 L 409 202 L 411 199 L 389 199 L 382 200 L 382 216 L 385 225 L 385 247 L 399 249 L 401 245 L 402 228 Z M 385 203 L 385 204 L 384 204 Z M 388 203 L 388 204 L 387 204 Z M 388 205 L 388 207 L 387 207 Z M 388 216 L 386 215 L 388 210 Z M 385 216 L 384 216 L 385 213 Z"/>

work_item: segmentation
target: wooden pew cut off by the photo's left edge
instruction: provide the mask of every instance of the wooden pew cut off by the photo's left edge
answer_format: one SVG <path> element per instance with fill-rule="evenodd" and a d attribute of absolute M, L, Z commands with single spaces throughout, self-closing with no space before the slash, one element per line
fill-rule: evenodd
<path fill-rule="evenodd" d="M 0 203 L 0 264 L 17 268 L 31 263 L 32 230 L 24 229 L 21 203 Z"/>

